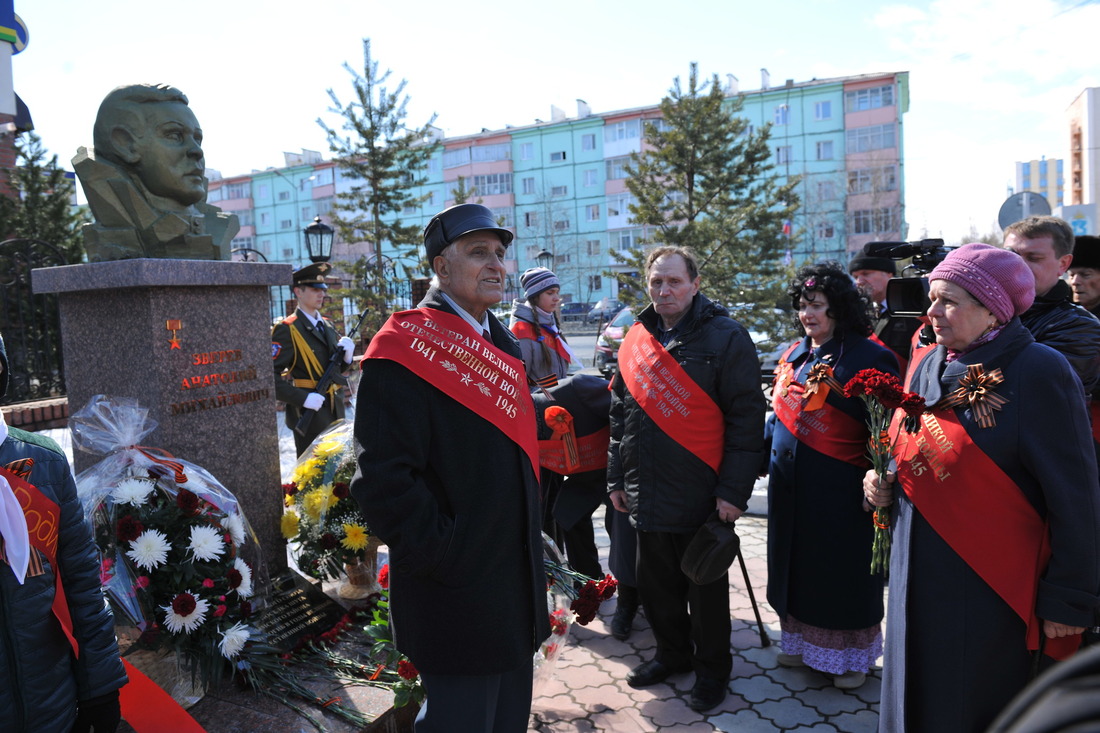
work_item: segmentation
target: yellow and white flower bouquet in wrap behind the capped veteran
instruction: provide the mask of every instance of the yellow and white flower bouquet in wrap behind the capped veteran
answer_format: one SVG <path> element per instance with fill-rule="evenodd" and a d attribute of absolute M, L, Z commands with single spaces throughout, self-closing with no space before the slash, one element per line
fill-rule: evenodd
<path fill-rule="evenodd" d="M 351 593 L 345 598 L 362 598 L 355 594 L 355 589 L 364 589 L 355 586 L 360 578 L 370 584 L 363 595 L 378 590 L 376 567 L 364 567 L 373 562 L 377 541 L 351 495 L 354 442 L 351 420 L 337 420 L 301 453 L 290 482 L 283 486 L 286 511 L 282 530 L 290 543 L 290 556 L 311 578 L 344 579 L 341 595 Z M 353 580 L 345 578 L 349 571 Z"/>

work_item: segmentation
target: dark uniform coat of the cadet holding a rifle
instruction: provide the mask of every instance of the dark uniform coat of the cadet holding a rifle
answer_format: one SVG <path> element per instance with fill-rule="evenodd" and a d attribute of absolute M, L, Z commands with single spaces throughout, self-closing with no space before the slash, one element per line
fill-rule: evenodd
<path fill-rule="evenodd" d="M 275 324 L 275 327 L 272 329 L 275 396 L 286 403 L 286 426 L 292 430 L 301 418 L 306 397 L 311 392 L 316 392 L 316 390 L 295 386 L 294 382 L 287 381 L 286 378 L 316 382 L 324 373 L 324 369 L 329 365 L 329 360 L 332 359 L 332 354 L 338 349 L 337 342 L 340 340 L 340 335 L 337 333 L 331 320 L 328 318 L 323 318 L 322 320 L 324 321 L 324 333 L 318 333 L 318 330 L 310 325 L 309 319 L 301 310 L 295 309 L 293 314 Z M 321 365 L 320 373 L 311 372 L 306 361 L 301 358 L 301 354 L 294 348 L 290 329 L 297 330 L 306 343 L 309 344 L 309 350 L 314 352 L 318 363 Z M 341 362 L 342 372 L 346 372 L 349 368 L 349 364 Z M 284 373 L 286 376 L 284 376 Z M 346 384 L 346 382 L 342 381 L 341 384 Z M 314 438 L 324 431 L 324 428 L 344 416 L 342 389 L 338 387 L 336 394 L 327 396 L 328 400 L 324 401 L 324 405 L 314 414 L 314 419 L 310 420 L 309 427 L 306 429 L 306 435 L 299 436 L 297 433 L 295 434 L 296 445 L 308 446 L 314 441 Z"/>

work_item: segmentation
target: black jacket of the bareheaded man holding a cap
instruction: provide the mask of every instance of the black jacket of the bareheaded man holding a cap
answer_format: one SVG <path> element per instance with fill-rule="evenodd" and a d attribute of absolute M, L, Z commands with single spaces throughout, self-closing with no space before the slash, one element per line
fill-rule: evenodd
<path fill-rule="evenodd" d="M 625 490 L 630 518 L 642 532 L 693 533 L 715 508 L 715 497 L 748 506 L 763 446 L 765 398 L 760 362 L 745 327 L 696 294 L 680 336 L 666 347 L 722 411 L 725 449 L 718 473 L 658 427 L 626 389 L 612 381 L 608 491 Z M 632 328 L 657 337 L 652 305 Z"/>

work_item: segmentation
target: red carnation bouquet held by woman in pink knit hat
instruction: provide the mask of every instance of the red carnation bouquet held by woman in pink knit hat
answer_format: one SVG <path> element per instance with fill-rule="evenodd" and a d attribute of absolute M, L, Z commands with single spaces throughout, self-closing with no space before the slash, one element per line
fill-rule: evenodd
<path fill-rule="evenodd" d="M 890 469 L 890 459 L 894 444 L 901 434 L 901 427 L 890 437 L 890 423 L 894 411 L 904 409 L 905 429 L 916 429 L 916 420 L 924 412 L 924 397 L 915 392 L 905 392 L 901 381 L 893 374 L 880 372 L 877 369 L 864 369 L 856 372 L 844 387 L 849 397 L 859 397 L 867 405 L 867 428 L 871 435 L 867 439 L 867 453 L 871 466 L 879 478 L 884 478 Z M 871 545 L 871 572 L 887 575 L 890 568 L 891 507 L 879 506 L 872 514 L 875 521 L 875 543 Z"/>

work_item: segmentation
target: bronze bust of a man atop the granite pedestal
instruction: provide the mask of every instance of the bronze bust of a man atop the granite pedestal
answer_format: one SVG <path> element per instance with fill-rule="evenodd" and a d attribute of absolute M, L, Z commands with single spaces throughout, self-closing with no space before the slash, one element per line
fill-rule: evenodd
<path fill-rule="evenodd" d="M 73 158 L 96 218 L 84 226 L 91 262 L 229 260 L 241 227 L 206 203 L 202 130 L 184 92 L 164 84 L 114 89 L 99 106 L 92 141 Z"/>

